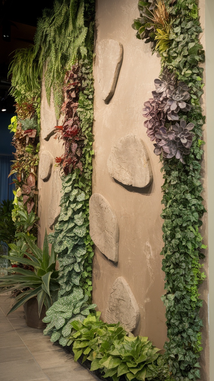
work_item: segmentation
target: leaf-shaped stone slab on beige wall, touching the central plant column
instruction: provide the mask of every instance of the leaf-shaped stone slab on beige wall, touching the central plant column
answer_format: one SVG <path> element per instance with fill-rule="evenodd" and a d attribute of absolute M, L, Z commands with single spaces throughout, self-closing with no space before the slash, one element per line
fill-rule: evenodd
<path fill-rule="evenodd" d="M 90 236 L 98 249 L 111 261 L 118 261 L 119 225 L 108 201 L 98 193 L 89 200 Z"/>

